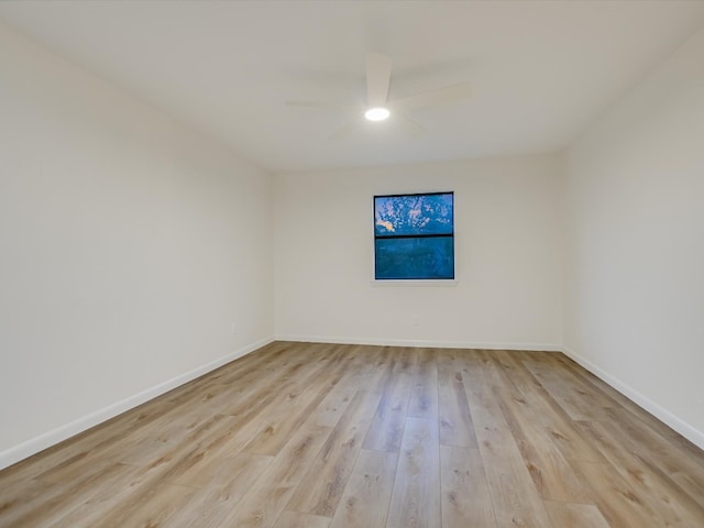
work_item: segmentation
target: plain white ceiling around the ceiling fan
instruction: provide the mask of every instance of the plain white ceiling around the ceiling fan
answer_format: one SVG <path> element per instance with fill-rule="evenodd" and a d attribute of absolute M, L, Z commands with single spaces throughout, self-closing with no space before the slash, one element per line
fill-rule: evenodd
<path fill-rule="evenodd" d="M 704 1 L 0 2 L 0 19 L 273 172 L 556 152 L 704 24 Z M 469 81 L 472 98 L 344 141 L 353 118 L 287 99 L 391 97 Z"/>

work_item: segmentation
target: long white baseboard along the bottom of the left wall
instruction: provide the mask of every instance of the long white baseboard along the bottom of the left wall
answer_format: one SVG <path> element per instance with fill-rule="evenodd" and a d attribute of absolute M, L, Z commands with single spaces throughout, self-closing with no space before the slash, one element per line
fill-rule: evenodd
<path fill-rule="evenodd" d="M 164 383 L 160 383 L 154 387 L 147 388 L 146 391 L 142 391 L 134 396 L 130 396 L 121 402 L 117 402 L 108 407 L 99 409 L 95 413 L 91 413 L 82 418 L 78 418 L 65 426 L 58 427 L 54 430 L 47 431 L 38 437 L 35 437 L 31 440 L 20 443 L 19 446 L 14 446 L 6 451 L 0 452 L 0 470 L 8 468 L 15 462 L 20 462 L 21 460 L 26 459 L 40 451 L 43 451 L 46 448 L 57 444 L 70 438 L 79 432 L 82 432 L 87 429 L 90 429 L 98 424 L 102 424 L 110 418 L 113 418 L 125 410 L 130 410 L 139 405 L 142 405 L 150 399 L 154 399 L 157 396 L 161 396 L 168 391 L 172 391 L 185 383 L 190 382 L 208 372 L 215 371 L 216 369 L 230 363 L 231 361 L 237 360 L 238 358 L 242 358 L 262 346 L 267 345 L 273 342 L 274 338 L 265 338 L 254 343 L 251 343 L 246 346 L 242 346 L 230 354 L 227 354 L 222 358 L 219 358 L 210 363 L 206 363 L 205 365 L 198 366 L 193 371 L 180 374 L 172 380 L 168 380 Z"/>

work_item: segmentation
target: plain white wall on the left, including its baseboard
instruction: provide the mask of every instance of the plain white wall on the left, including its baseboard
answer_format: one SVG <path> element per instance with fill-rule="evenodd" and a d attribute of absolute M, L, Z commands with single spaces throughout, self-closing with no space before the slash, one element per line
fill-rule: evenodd
<path fill-rule="evenodd" d="M 271 339 L 271 197 L 0 25 L 0 468 Z"/>

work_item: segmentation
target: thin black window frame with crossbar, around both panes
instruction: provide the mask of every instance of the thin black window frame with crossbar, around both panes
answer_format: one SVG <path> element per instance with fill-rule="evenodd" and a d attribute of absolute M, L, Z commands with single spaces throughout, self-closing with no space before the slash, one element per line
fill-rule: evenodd
<path fill-rule="evenodd" d="M 428 234 L 400 234 L 400 235 L 380 235 L 376 233 L 376 199 L 377 198 L 400 198 L 400 197 L 414 197 L 414 196 L 439 196 L 451 195 L 452 196 L 452 216 L 451 216 L 451 233 L 428 233 Z M 376 285 L 455 285 L 457 278 L 457 246 L 454 243 L 455 234 L 455 193 L 453 190 L 438 190 L 438 191 L 425 191 L 425 193 L 394 193 L 386 195 L 374 195 L 372 197 L 372 229 L 374 233 L 372 260 L 373 260 L 373 284 Z M 417 277 L 417 278 L 380 278 L 377 275 L 377 255 L 376 255 L 376 241 L 378 239 L 418 239 L 418 238 L 449 238 L 452 243 L 452 276 L 451 277 Z"/>

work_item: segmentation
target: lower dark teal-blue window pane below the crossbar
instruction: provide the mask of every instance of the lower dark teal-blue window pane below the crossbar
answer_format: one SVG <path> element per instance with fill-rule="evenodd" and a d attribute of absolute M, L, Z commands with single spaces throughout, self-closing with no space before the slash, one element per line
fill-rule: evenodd
<path fill-rule="evenodd" d="M 454 278 L 452 237 L 376 239 L 376 278 Z"/>

